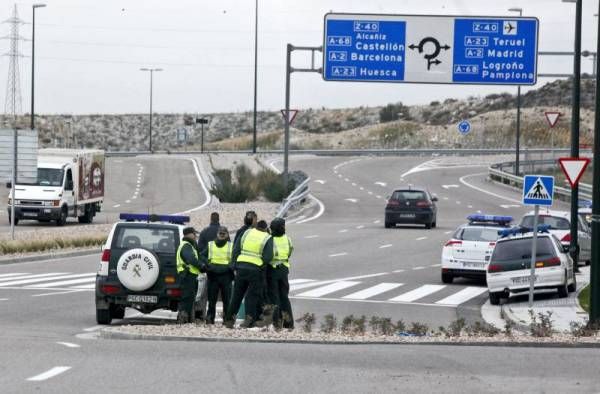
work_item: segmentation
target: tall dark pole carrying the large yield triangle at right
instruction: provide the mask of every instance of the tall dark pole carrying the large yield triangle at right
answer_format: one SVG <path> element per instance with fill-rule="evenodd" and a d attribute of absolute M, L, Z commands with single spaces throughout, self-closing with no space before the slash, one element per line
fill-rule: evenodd
<path fill-rule="evenodd" d="M 575 56 L 573 57 L 573 114 L 571 115 L 571 157 L 579 157 L 579 111 L 581 89 L 581 13 L 582 0 L 575 4 Z M 573 257 L 574 271 L 579 272 L 579 248 L 577 242 L 577 225 L 579 211 L 579 187 L 571 188 L 571 244 L 569 249 Z"/>

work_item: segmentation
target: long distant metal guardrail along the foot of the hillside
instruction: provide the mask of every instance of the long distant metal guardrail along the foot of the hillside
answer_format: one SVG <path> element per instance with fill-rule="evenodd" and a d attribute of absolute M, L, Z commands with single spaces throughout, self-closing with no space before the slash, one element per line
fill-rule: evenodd
<path fill-rule="evenodd" d="M 535 153 L 548 153 L 551 150 L 549 148 L 535 148 L 528 149 L 527 152 L 531 154 Z M 582 150 L 587 152 L 589 150 Z M 515 150 L 513 148 L 500 148 L 500 149 L 303 149 L 303 150 L 290 150 L 292 155 L 321 155 L 321 156 L 427 156 L 427 155 L 447 155 L 447 156 L 469 156 L 469 155 L 502 155 L 502 154 L 513 154 Z M 569 149 L 554 149 L 556 153 L 568 153 Z M 590 151 L 591 152 L 591 151 Z M 252 154 L 250 150 L 241 151 L 139 151 L 139 152 L 106 152 L 108 157 L 119 157 L 119 156 L 138 156 L 138 155 L 149 155 L 149 154 L 161 154 L 161 155 L 200 155 L 205 153 L 213 154 Z M 283 150 L 280 149 L 269 149 L 269 150 L 258 150 L 257 154 L 269 155 L 269 154 L 283 154 Z"/>

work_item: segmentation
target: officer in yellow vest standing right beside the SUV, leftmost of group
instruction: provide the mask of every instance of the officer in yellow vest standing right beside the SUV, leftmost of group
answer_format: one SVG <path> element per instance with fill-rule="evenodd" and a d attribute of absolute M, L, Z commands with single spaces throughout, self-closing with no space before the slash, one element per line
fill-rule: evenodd
<path fill-rule="evenodd" d="M 198 275 L 206 272 L 206 264 L 199 257 L 197 238 L 198 232 L 193 227 L 186 227 L 183 229 L 183 239 L 177 248 L 177 274 L 183 293 L 177 313 L 177 322 L 180 324 L 193 322 Z"/>

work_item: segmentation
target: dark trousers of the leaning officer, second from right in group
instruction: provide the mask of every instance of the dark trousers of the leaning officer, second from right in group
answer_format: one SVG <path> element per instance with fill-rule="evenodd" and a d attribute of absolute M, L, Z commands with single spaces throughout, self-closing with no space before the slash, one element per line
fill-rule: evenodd
<path fill-rule="evenodd" d="M 227 320 L 235 320 L 244 294 L 246 295 L 246 315 L 254 321 L 258 320 L 258 307 L 264 289 L 264 273 L 259 268 L 243 268 L 245 263 L 238 263 L 237 275 L 233 284 L 233 298 L 227 310 Z"/>

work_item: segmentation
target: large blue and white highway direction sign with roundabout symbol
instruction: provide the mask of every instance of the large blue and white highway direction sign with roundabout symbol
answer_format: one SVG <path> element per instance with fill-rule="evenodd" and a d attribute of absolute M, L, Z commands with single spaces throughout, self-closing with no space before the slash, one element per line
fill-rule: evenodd
<path fill-rule="evenodd" d="M 325 15 L 327 81 L 533 85 L 536 18 Z"/>

